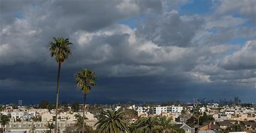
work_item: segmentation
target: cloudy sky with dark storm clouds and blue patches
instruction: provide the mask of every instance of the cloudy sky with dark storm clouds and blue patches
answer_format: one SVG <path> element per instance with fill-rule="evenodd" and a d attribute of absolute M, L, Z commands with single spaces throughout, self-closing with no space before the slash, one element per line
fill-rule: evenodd
<path fill-rule="evenodd" d="M 0 104 L 55 102 L 52 38 L 69 38 L 60 101 L 83 101 L 74 75 L 95 71 L 89 103 L 256 102 L 253 0 L 0 1 Z"/>

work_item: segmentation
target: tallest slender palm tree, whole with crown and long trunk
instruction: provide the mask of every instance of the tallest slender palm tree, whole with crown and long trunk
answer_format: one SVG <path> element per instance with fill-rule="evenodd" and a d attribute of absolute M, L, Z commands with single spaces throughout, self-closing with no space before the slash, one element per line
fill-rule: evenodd
<path fill-rule="evenodd" d="M 72 45 L 71 42 L 69 42 L 69 39 L 64 38 L 53 38 L 53 41 L 49 43 L 50 46 L 50 55 L 51 57 L 55 57 L 59 67 L 58 67 L 58 76 L 57 76 L 57 94 L 56 94 L 56 119 L 55 119 L 55 125 L 57 125 L 57 117 L 58 117 L 58 102 L 59 102 L 59 77 L 60 77 L 60 66 L 62 63 L 69 57 L 71 54 L 70 46 Z M 58 128 L 55 127 L 55 132 L 57 132 Z"/>

